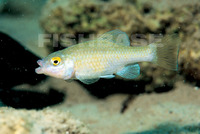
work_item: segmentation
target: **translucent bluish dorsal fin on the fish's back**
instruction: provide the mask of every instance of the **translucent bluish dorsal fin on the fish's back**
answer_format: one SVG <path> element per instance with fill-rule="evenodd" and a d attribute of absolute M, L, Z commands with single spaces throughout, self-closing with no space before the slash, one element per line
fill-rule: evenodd
<path fill-rule="evenodd" d="M 113 42 L 117 45 L 130 46 L 128 35 L 118 29 L 102 34 L 97 40 Z"/>

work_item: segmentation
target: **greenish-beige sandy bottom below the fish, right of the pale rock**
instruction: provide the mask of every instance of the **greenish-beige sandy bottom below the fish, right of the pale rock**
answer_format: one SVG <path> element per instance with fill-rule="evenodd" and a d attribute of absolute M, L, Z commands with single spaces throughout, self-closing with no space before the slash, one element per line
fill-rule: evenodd
<path fill-rule="evenodd" d="M 17 88 L 27 89 L 27 85 Z M 200 90 L 182 81 L 178 81 L 170 92 L 136 96 L 124 113 L 120 110 L 129 95 L 115 94 L 97 99 L 77 82 L 49 78 L 30 90 L 44 92 L 49 88 L 67 95 L 63 103 L 51 108 L 70 111 L 94 134 L 200 132 Z"/>

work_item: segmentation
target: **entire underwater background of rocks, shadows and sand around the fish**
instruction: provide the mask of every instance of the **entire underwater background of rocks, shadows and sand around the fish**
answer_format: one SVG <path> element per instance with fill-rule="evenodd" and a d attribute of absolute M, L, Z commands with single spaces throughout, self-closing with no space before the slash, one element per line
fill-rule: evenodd
<path fill-rule="evenodd" d="M 179 70 L 139 63 L 135 80 L 91 85 L 35 73 L 38 59 L 115 29 L 132 46 L 177 33 Z M 0 0 L 0 66 L 0 134 L 200 133 L 199 0 Z"/>

